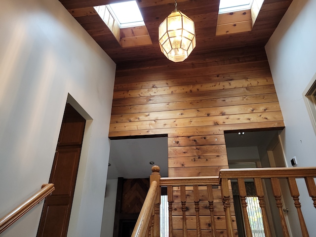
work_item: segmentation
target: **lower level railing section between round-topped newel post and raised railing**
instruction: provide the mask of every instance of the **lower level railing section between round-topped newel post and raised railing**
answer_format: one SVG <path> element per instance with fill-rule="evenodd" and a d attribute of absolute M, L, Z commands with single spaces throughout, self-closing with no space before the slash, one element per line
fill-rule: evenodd
<path fill-rule="evenodd" d="M 167 186 L 169 237 L 218 236 L 215 228 L 212 191 L 213 186 L 218 187 L 218 185 L 218 177 L 212 176 L 160 179 L 160 186 Z M 206 209 L 209 211 L 208 214 L 205 212 Z M 175 212 L 181 210 L 182 213 L 173 214 L 173 210 Z"/>

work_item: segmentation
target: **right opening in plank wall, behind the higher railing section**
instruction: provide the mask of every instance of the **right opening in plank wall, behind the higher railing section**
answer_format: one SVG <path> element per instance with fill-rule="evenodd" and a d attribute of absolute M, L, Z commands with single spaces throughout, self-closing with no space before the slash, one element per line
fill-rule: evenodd
<path fill-rule="evenodd" d="M 269 157 L 269 150 L 271 147 L 276 146 L 278 142 L 278 130 L 271 131 L 234 131 L 231 133 L 225 133 L 227 157 L 230 168 L 259 168 L 259 167 L 273 167 L 271 164 L 271 158 Z M 282 159 L 284 158 L 277 158 Z M 279 161 L 281 162 L 281 161 Z M 284 161 L 283 161 L 284 162 Z M 262 217 L 261 210 L 257 208 L 258 198 L 256 197 L 256 190 L 253 183 L 253 179 L 246 180 L 247 190 L 247 212 L 250 224 L 253 224 L 252 233 L 253 236 L 264 237 L 262 231 Z M 270 221 L 270 228 L 272 235 L 278 236 L 280 222 L 278 215 L 275 215 L 274 196 L 269 193 L 269 185 L 266 184 L 266 194 L 269 200 L 266 201 L 267 214 Z M 237 219 L 238 235 L 245 237 L 245 230 L 243 224 L 242 210 L 241 210 L 241 199 L 238 192 L 237 182 L 232 181 L 233 198 Z M 250 210 L 250 207 L 251 208 Z M 261 218 L 260 218 L 261 217 Z"/>

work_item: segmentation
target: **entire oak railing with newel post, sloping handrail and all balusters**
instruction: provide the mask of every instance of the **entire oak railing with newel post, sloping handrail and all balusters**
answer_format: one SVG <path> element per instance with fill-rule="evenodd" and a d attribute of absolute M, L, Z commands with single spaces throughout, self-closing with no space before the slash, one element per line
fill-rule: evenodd
<path fill-rule="evenodd" d="M 266 204 L 264 201 L 263 179 L 270 179 L 273 194 L 282 224 L 283 236 L 289 236 L 284 219 L 279 179 L 287 179 L 290 194 L 297 209 L 302 236 L 309 237 L 299 201 L 297 178 L 304 178 L 316 207 L 316 167 L 309 168 L 255 168 L 255 169 L 222 169 L 219 177 L 180 177 L 160 178 L 160 168 L 153 166 L 150 177 L 150 189 L 137 220 L 132 237 L 159 237 L 160 187 L 167 187 L 169 237 L 202 237 L 202 236 L 237 236 L 235 217 L 232 217 L 233 197 L 230 180 L 237 180 L 241 210 L 247 237 L 251 237 L 251 228 L 247 214 L 245 179 L 253 179 L 259 205 L 262 211 L 264 232 L 271 237 L 268 224 Z M 218 188 L 219 187 L 219 188 Z M 216 192 L 216 194 L 214 194 Z M 220 192 L 218 194 L 218 192 Z M 221 197 L 218 197 L 220 195 Z M 216 198 L 216 204 L 214 199 Z M 219 202 L 221 201 L 221 202 Z M 208 204 L 207 206 L 205 204 Z M 216 208 L 214 208 L 216 206 Z M 209 214 L 206 216 L 205 210 Z M 216 209 L 216 215 L 214 212 Z M 219 209 L 224 210 L 220 212 Z M 176 213 L 175 213 L 176 212 Z M 223 213 L 223 214 L 218 214 Z M 223 218 L 222 216 L 223 215 Z M 215 217 L 216 216 L 216 217 Z M 224 226 L 223 226 L 223 224 Z M 217 226 L 218 225 L 218 226 Z"/>

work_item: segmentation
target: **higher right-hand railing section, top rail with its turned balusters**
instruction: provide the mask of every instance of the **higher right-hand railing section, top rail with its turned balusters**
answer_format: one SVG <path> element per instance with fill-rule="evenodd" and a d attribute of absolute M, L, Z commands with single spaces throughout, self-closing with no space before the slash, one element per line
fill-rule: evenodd
<path fill-rule="evenodd" d="M 288 229 L 285 222 L 284 212 L 282 208 L 281 202 L 281 191 L 280 191 L 280 183 L 279 179 L 287 179 L 288 187 L 290 190 L 290 194 L 293 197 L 294 205 L 297 209 L 301 232 L 303 237 L 309 237 L 304 217 L 301 210 L 301 203 L 299 201 L 299 191 L 296 184 L 297 178 L 304 178 L 305 183 L 309 192 L 310 197 L 314 201 L 314 207 L 316 207 L 316 185 L 314 178 L 316 177 L 316 167 L 306 167 L 306 168 L 252 168 L 252 169 L 221 169 L 220 170 L 220 182 L 222 187 L 222 197 L 224 202 L 224 208 L 229 208 L 226 199 L 229 198 L 229 181 L 230 180 L 237 180 L 238 182 L 238 189 L 239 195 L 241 198 L 242 204 L 242 211 L 244 215 L 244 224 L 245 224 L 245 231 L 247 237 L 251 237 L 251 230 L 249 225 L 249 220 L 247 217 L 246 211 L 246 202 L 243 201 L 243 198 L 246 196 L 244 182 L 245 179 L 254 179 L 254 184 L 257 192 L 257 197 L 259 199 L 259 205 L 262 211 L 262 219 L 264 225 L 264 231 L 266 237 L 271 237 L 271 231 L 268 224 L 268 217 L 266 213 L 266 205 L 264 202 L 264 190 L 263 190 L 263 179 L 270 179 L 272 184 L 272 190 L 274 197 L 276 199 L 276 206 L 279 210 L 279 216 L 281 220 L 281 226 L 283 231 L 284 237 L 289 237 Z M 228 230 L 228 237 L 233 237 L 232 227 L 231 227 L 231 216 L 230 212 L 226 211 L 226 220 L 227 222 L 227 230 Z"/>

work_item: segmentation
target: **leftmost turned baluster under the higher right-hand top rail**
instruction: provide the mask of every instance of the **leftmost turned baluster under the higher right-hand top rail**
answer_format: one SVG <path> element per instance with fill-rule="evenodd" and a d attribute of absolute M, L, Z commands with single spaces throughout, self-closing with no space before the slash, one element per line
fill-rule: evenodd
<path fill-rule="evenodd" d="M 229 192 L 229 185 L 228 179 L 222 178 L 221 179 L 221 189 L 222 189 L 222 199 L 224 204 L 224 211 L 226 217 L 226 230 L 228 237 L 234 237 L 233 231 L 233 221 L 232 221 L 232 214 L 231 214 L 231 202 L 230 202 L 230 192 Z"/>

